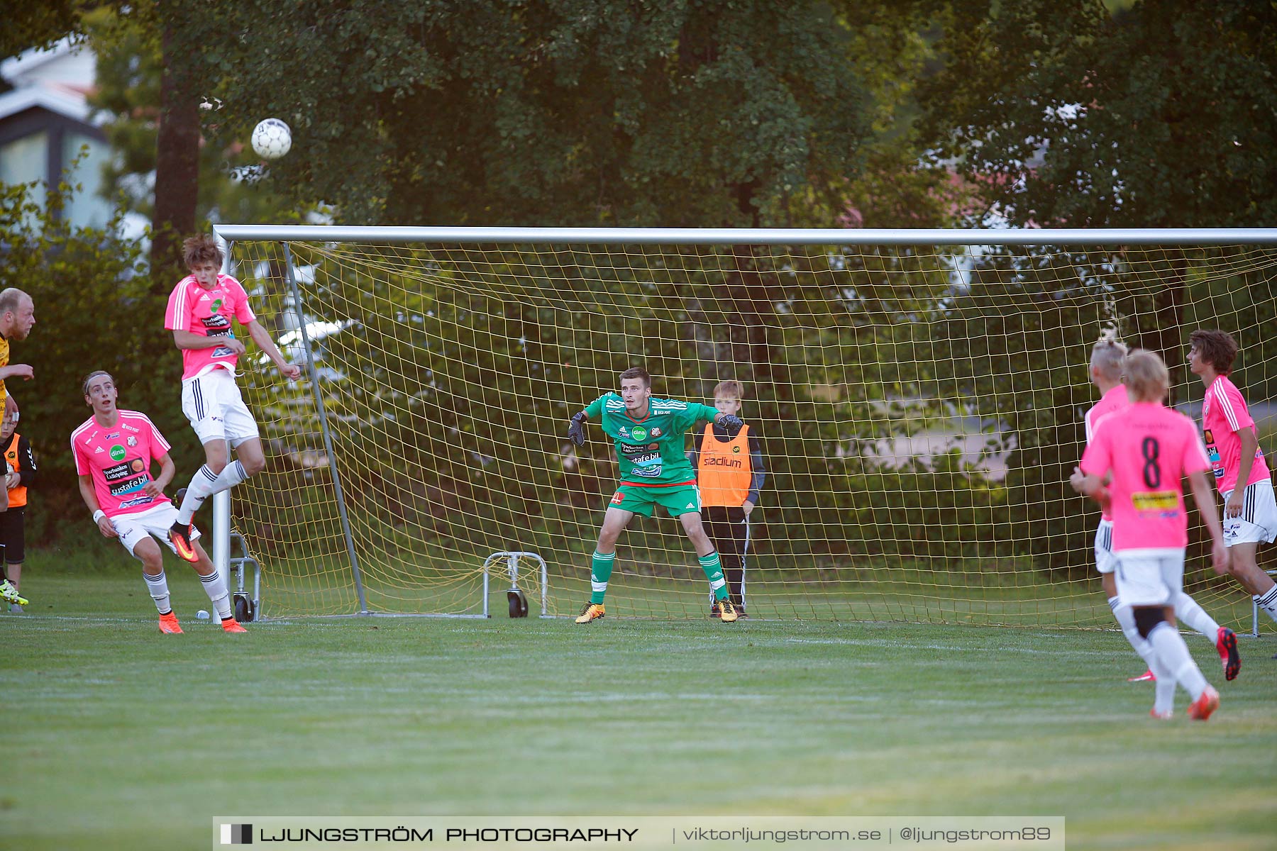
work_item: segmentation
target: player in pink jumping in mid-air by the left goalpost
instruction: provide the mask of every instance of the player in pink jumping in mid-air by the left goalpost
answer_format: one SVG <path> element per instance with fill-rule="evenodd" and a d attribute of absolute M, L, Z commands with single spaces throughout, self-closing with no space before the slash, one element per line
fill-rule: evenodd
<path fill-rule="evenodd" d="M 239 320 L 283 378 L 295 380 L 301 367 L 290 364 L 276 348 L 271 333 L 249 307 L 240 282 L 220 273 L 225 255 L 217 241 L 208 235 L 193 236 L 183 249 L 190 274 L 169 296 L 165 328 L 172 332 L 172 341 L 181 351 L 181 411 L 204 444 L 204 466 L 183 489 L 185 495 L 170 535 L 178 554 L 194 561 L 190 521 L 199 507 L 213 494 L 266 467 L 257 421 L 235 384 L 235 365 L 245 347 L 235 339 L 231 320 Z M 234 463 L 227 463 L 227 441 L 235 449 Z"/>

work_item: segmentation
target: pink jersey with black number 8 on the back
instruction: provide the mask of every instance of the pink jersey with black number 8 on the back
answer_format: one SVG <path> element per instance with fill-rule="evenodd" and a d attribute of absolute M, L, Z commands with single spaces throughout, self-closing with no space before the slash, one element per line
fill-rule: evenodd
<path fill-rule="evenodd" d="M 1088 476 L 1112 472 L 1114 552 L 1188 546 L 1180 482 L 1207 470 L 1197 426 L 1160 402 L 1137 402 L 1103 417 L 1082 455 Z"/>

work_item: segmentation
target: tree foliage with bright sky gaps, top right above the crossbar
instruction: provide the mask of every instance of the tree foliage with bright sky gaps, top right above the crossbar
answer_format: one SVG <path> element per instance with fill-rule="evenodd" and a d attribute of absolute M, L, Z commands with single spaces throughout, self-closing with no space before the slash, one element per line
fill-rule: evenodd
<path fill-rule="evenodd" d="M 1271 225 L 1274 43 L 1267 0 L 951 3 L 926 129 L 1016 225 Z"/>

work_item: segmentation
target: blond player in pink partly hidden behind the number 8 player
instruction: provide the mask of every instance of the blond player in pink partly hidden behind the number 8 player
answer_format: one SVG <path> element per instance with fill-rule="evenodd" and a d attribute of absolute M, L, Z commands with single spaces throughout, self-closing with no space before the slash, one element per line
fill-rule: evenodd
<path fill-rule="evenodd" d="M 1114 339 L 1101 339 L 1091 350 L 1091 380 L 1099 389 L 1101 398 L 1083 416 L 1088 444 L 1105 417 L 1130 406 L 1130 399 L 1126 396 L 1126 385 L 1121 383 L 1125 357 L 1126 347 Z M 1069 477 L 1069 484 L 1073 485 L 1074 490 L 1082 492 L 1082 471 L 1074 467 L 1073 476 Z M 1117 582 L 1114 578 L 1114 569 L 1117 566 L 1117 560 L 1112 552 L 1112 517 L 1107 512 L 1101 512 L 1099 527 L 1096 529 L 1096 569 L 1099 572 L 1105 597 L 1108 600 L 1108 607 L 1112 610 L 1114 618 L 1121 626 L 1122 635 L 1126 637 L 1126 640 L 1130 642 L 1131 648 L 1139 653 L 1140 658 L 1148 663 L 1148 670 L 1139 676 L 1130 677 L 1129 681 L 1151 681 L 1157 679 L 1152 666 L 1153 646 L 1139 634 L 1139 629 L 1135 626 L 1134 610 L 1117 593 Z M 1225 677 L 1228 680 L 1235 679 L 1241 670 L 1236 634 L 1227 626 L 1217 624 L 1193 597 L 1183 591 L 1175 597 L 1175 616 L 1202 633 L 1214 644 L 1223 663 Z"/>

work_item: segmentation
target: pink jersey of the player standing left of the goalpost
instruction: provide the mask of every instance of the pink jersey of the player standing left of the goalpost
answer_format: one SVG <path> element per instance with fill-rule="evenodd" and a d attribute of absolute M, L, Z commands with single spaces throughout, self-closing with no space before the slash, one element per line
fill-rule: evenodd
<path fill-rule="evenodd" d="M 142 490 L 151 481 L 151 459 L 169 454 L 169 441 L 144 413 L 120 411 L 110 427 L 89 417 L 72 433 L 72 454 L 77 475 L 92 477 L 97 504 L 107 517 L 170 501 L 163 494 L 147 496 Z"/>

